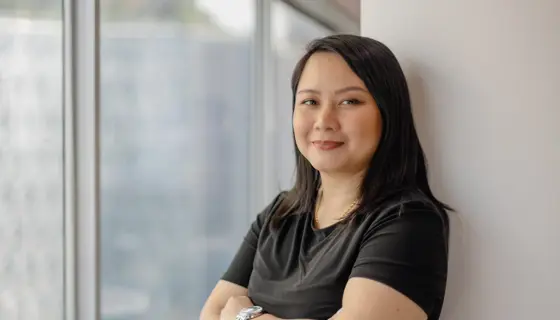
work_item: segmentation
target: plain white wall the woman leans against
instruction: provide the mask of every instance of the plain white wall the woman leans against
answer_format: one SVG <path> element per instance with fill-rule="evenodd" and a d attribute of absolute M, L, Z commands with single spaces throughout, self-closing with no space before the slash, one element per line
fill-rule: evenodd
<path fill-rule="evenodd" d="M 560 319 L 560 1 L 363 0 L 453 215 L 442 319 Z"/>

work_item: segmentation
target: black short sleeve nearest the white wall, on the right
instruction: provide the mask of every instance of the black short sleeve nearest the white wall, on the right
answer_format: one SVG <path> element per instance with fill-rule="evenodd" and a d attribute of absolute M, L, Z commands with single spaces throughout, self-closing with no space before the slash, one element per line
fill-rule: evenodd
<path fill-rule="evenodd" d="M 445 294 L 447 228 L 447 216 L 433 209 L 383 218 L 364 235 L 350 277 L 386 284 L 430 315 Z"/>

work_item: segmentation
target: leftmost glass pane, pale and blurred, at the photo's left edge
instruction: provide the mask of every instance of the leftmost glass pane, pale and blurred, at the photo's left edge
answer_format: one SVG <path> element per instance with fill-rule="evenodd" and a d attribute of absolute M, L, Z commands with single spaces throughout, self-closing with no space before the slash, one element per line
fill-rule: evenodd
<path fill-rule="evenodd" d="M 0 2 L 0 319 L 64 310 L 62 1 Z"/>

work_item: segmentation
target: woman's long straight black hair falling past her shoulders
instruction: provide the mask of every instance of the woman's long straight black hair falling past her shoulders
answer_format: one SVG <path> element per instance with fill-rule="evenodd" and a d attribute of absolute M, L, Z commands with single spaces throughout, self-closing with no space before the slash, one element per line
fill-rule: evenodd
<path fill-rule="evenodd" d="M 408 84 L 393 52 L 379 41 L 356 35 L 338 34 L 312 41 L 292 75 L 292 112 L 301 74 L 307 60 L 316 52 L 332 52 L 344 58 L 373 96 L 382 118 L 380 143 L 360 186 L 360 205 L 343 221 L 353 219 L 358 212 L 376 211 L 381 203 L 395 197 L 397 205 L 420 200 L 440 213 L 452 210 L 436 199 L 428 184 L 427 164 L 414 126 Z M 295 185 L 284 194 L 273 213 L 273 226 L 278 226 L 290 214 L 312 212 L 317 200 L 319 172 L 298 150 L 295 137 L 294 146 Z"/>

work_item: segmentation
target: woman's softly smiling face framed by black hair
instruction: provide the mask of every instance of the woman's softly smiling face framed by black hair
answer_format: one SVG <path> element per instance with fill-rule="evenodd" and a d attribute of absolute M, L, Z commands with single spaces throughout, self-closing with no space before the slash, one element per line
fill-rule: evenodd
<path fill-rule="evenodd" d="M 322 173 L 365 170 L 381 137 L 381 114 L 344 59 L 314 53 L 301 75 L 293 126 L 299 151 Z"/>

